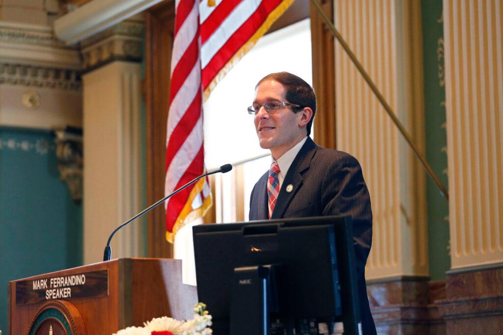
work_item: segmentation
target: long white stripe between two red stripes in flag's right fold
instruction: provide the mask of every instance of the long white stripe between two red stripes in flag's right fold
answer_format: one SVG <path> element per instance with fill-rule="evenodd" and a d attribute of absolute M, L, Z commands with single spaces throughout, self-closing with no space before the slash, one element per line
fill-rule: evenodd
<path fill-rule="evenodd" d="M 257 10 L 261 2 L 261 0 L 244 0 L 225 18 L 222 24 L 201 47 L 202 69 L 208 65 L 213 56 L 215 56 L 235 31 Z"/>

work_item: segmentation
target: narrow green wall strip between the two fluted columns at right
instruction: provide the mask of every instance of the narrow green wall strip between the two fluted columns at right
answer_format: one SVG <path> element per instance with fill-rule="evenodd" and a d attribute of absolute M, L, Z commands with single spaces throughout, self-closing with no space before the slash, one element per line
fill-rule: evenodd
<path fill-rule="evenodd" d="M 447 134 L 444 77 L 444 24 L 441 0 L 422 0 L 425 78 L 426 157 L 447 187 Z M 449 203 L 428 178 L 428 253 L 430 277 L 444 280 L 451 267 Z"/>

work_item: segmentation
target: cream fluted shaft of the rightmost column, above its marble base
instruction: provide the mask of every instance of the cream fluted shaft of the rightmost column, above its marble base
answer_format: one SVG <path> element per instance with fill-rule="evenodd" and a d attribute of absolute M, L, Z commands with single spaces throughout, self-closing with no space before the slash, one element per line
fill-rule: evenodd
<path fill-rule="evenodd" d="M 444 1 L 452 268 L 503 262 L 503 2 Z"/>

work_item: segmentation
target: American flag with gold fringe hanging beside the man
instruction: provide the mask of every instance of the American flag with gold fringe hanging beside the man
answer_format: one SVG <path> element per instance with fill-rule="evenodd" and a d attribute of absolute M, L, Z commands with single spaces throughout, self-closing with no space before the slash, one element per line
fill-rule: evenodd
<path fill-rule="evenodd" d="M 294 0 L 177 0 L 167 118 L 165 194 L 205 172 L 203 96 Z M 166 239 L 211 207 L 208 179 L 165 203 Z"/>

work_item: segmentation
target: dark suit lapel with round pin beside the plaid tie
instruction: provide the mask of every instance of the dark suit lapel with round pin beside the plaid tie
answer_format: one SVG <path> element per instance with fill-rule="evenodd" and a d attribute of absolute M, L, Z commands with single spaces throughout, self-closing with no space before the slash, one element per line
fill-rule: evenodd
<path fill-rule="evenodd" d="M 278 195 L 278 200 L 276 201 L 276 206 L 274 207 L 273 214 L 271 218 L 281 218 L 283 214 L 285 214 L 285 210 L 288 208 L 288 205 L 292 201 L 293 197 L 302 186 L 302 174 L 305 170 L 309 169 L 309 165 L 311 164 L 311 159 L 316 151 L 316 143 L 311 140 L 311 138 L 307 138 L 306 143 L 302 146 L 299 153 L 295 157 L 288 169 L 288 172 L 283 180 L 283 184 L 281 185 L 281 189 Z M 290 192 L 286 191 L 286 188 L 292 185 L 293 189 Z M 267 188 L 267 181 L 266 187 Z M 267 204 L 267 190 L 266 190 L 266 208 Z M 266 214 L 267 216 L 268 213 Z"/>

